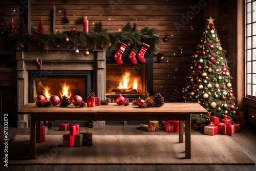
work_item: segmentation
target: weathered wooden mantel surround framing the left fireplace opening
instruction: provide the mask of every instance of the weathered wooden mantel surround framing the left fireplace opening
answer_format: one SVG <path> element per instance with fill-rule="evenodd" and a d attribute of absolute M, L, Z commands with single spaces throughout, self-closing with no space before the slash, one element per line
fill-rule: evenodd
<path fill-rule="evenodd" d="M 105 99 L 105 50 L 92 50 L 89 56 L 74 54 L 68 50 L 16 50 L 17 60 L 17 109 L 28 103 L 28 74 L 39 72 L 44 76 L 54 72 L 93 71 L 93 91 L 100 99 Z M 39 68 L 36 58 L 42 59 Z M 18 115 L 17 127 L 29 127 L 29 115 Z"/>

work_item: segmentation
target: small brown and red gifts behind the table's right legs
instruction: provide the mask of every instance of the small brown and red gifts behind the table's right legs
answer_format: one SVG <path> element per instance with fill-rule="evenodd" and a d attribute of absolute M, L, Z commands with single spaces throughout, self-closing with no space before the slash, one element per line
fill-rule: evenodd
<path fill-rule="evenodd" d="M 140 124 L 140 129 L 147 132 L 155 132 L 159 130 L 159 122 L 155 120 L 148 121 L 147 124 Z M 179 132 L 179 121 L 168 120 L 162 121 L 162 130 L 166 133 Z"/>

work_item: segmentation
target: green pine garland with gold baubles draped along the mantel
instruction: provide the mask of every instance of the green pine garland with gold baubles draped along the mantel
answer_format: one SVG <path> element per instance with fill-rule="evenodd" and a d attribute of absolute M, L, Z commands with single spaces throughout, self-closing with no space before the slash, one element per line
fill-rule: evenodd
<path fill-rule="evenodd" d="M 101 22 L 99 24 L 102 27 Z M 136 26 L 136 25 L 134 25 Z M 141 31 L 127 29 L 127 27 L 131 27 L 130 23 L 126 25 L 126 29 L 109 33 L 107 30 L 102 30 L 102 28 L 95 29 L 94 32 L 78 32 L 75 29 L 71 31 L 60 32 L 50 34 L 36 34 L 35 32 L 32 34 L 19 32 L 14 35 L 8 35 L 7 37 L 2 37 L 2 42 L 5 43 L 7 41 L 8 46 L 14 46 L 16 49 L 30 49 L 31 42 L 37 41 L 39 46 L 48 47 L 49 42 L 55 47 L 63 47 L 73 44 L 73 47 L 69 48 L 77 48 L 78 46 L 86 47 L 88 49 L 113 49 L 124 42 L 127 45 L 139 46 L 143 43 L 150 45 L 150 49 L 152 52 L 156 52 L 159 47 L 160 41 L 162 38 L 155 34 L 155 29 L 148 29 L 148 27 L 143 28 Z M 128 30 L 128 31 L 127 31 Z"/>

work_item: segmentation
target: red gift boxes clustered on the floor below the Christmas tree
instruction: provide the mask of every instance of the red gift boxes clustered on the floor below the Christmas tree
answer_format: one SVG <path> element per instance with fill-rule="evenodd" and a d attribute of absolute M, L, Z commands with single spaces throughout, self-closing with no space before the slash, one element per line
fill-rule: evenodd
<path fill-rule="evenodd" d="M 245 126 L 244 114 L 239 113 L 237 122 L 231 121 L 227 118 L 227 115 L 223 115 L 223 119 L 220 122 L 220 118 L 212 117 L 209 125 L 204 126 L 205 135 L 216 135 L 222 133 L 224 135 L 233 135 L 234 132 L 240 132 L 240 127 Z"/>

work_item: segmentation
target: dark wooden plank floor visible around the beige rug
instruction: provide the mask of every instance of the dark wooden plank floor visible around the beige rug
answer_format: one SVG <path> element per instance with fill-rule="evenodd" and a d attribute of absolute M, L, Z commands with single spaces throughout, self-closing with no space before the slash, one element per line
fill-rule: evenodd
<path fill-rule="evenodd" d="M 3 127 L 0 127 L 0 142 L 1 151 L 3 151 Z M 58 127 L 53 127 L 52 130 L 47 131 L 47 135 L 63 135 L 63 132 L 58 132 Z M 93 132 L 93 135 L 166 135 L 164 131 L 156 131 L 155 133 L 148 133 L 140 131 L 138 126 L 105 126 L 104 129 L 92 129 L 89 127 L 81 127 L 81 132 Z M 29 135 L 29 129 L 16 129 L 14 127 L 8 127 L 8 138 L 9 142 L 15 135 Z M 177 134 L 178 133 L 171 133 Z M 200 131 L 191 131 L 191 135 L 201 135 Z M 241 129 L 240 133 L 235 133 L 230 136 L 242 151 L 254 162 L 256 163 L 256 131 L 253 127 L 245 127 Z M 203 142 L 202 142 L 203 143 Z M 200 144 L 199 144 L 200 145 Z M 217 144 L 218 145 L 218 144 Z M 172 155 L 172 154 L 170 154 Z M 2 157 L 2 156 L 1 156 Z M 71 156 L 72 157 L 72 156 Z M 223 159 L 225 160 L 225 159 Z M 1 160 L 2 161 L 2 160 Z M 3 166 L 1 163 L 0 170 L 62 170 L 62 171 L 73 171 L 73 170 L 256 170 L 256 165 L 116 165 L 116 164 L 101 164 L 101 165 L 9 165 L 8 168 Z"/>

